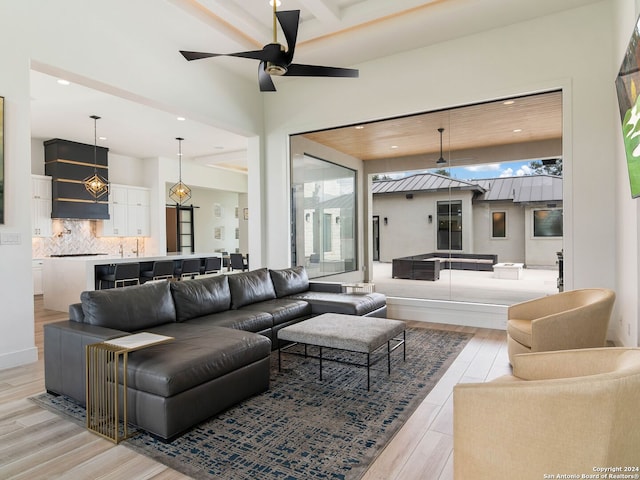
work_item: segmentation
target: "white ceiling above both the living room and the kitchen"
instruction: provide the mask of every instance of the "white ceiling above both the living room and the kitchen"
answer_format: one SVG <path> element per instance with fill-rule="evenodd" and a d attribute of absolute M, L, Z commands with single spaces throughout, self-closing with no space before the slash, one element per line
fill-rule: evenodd
<path fill-rule="evenodd" d="M 272 7 L 268 0 L 165 0 L 181 12 L 176 18 L 155 19 L 161 48 L 170 41 L 178 50 L 234 53 L 255 50 L 273 39 Z M 279 10 L 300 10 L 301 21 L 294 62 L 353 67 L 392 55 L 479 31 L 548 15 L 597 0 L 281 0 Z M 171 11 L 161 9 L 160 12 Z M 173 10 L 175 13 L 175 10 Z M 202 29 L 183 38 L 167 39 L 162 26 L 181 18 L 201 22 Z M 140 22 L 148 23 L 147 18 Z M 284 43 L 278 33 L 278 41 Z M 211 38 L 211 42 L 208 40 Z M 215 41 L 213 40 L 215 39 Z M 186 62 L 186 60 L 185 60 Z M 211 58 L 223 68 L 256 81 L 256 61 Z M 210 125 L 176 120 L 175 112 L 149 108 L 123 96 L 113 96 L 73 83 L 61 86 L 57 78 L 32 71 L 32 136 L 65 138 L 93 143 L 93 121 L 98 121 L 98 144 L 112 153 L 137 158 L 173 157 L 176 136 L 186 140 L 186 157 L 204 164 L 242 166 L 246 139 Z M 279 78 L 276 86 L 286 89 Z M 357 81 L 345 79 L 344 81 Z M 269 93 L 263 93 L 269 95 Z M 88 109 L 90 113 L 87 114 Z"/>

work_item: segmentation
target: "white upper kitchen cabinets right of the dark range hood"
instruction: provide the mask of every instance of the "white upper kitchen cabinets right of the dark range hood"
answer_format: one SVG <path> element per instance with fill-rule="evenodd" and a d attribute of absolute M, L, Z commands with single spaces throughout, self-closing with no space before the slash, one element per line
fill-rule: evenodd
<path fill-rule="evenodd" d="M 148 188 L 111 184 L 109 220 L 98 228 L 101 237 L 146 237 L 150 234 Z"/>

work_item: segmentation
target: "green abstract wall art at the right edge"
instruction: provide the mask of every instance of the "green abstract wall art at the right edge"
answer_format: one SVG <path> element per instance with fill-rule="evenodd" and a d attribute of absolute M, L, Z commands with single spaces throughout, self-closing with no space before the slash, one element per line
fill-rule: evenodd
<path fill-rule="evenodd" d="M 640 18 L 616 78 L 616 93 L 622 121 L 622 137 L 627 158 L 631 196 L 640 196 Z"/>

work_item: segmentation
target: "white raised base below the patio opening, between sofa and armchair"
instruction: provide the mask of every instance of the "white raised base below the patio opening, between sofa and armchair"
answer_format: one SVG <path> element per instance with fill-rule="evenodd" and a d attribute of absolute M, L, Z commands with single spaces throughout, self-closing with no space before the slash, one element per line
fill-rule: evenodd
<path fill-rule="evenodd" d="M 387 318 L 507 329 L 507 305 L 387 297 Z"/>

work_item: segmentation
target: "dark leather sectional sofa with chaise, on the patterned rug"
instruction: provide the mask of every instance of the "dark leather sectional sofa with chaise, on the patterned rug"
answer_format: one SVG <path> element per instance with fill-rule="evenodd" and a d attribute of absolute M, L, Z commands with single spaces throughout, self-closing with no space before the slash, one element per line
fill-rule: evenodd
<path fill-rule="evenodd" d="M 267 390 L 277 331 L 326 312 L 386 317 L 386 298 L 310 282 L 304 267 L 85 291 L 69 320 L 44 327 L 45 387 L 84 405 L 87 345 L 174 337 L 130 353 L 127 367 L 129 422 L 171 440 Z"/>

